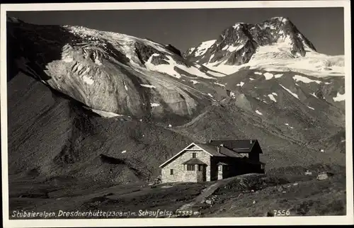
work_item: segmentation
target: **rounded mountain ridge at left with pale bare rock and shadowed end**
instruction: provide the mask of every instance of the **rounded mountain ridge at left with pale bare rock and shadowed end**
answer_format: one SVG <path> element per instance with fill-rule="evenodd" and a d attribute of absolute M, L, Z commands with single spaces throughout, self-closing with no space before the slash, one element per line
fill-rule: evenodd
<path fill-rule="evenodd" d="M 204 106 L 200 101 L 210 103 L 210 96 L 195 90 L 190 81 L 215 80 L 212 74 L 219 73 L 186 61 L 172 45 L 82 26 L 12 21 L 8 22 L 8 40 L 16 50 L 9 55 L 17 62 L 11 62 L 10 68 L 18 65 L 93 110 L 161 118 L 169 113 L 193 115 L 198 106 Z M 209 93 L 215 94 L 209 87 Z M 99 99 L 93 93 L 99 93 Z"/>

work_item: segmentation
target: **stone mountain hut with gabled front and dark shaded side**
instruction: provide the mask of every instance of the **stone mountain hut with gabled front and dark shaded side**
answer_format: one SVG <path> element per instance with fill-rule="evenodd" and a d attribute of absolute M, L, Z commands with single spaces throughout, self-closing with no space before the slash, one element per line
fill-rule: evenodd
<path fill-rule="evenodd" d="M 161 182 L 216 181 L 245 173 L 264 173 L 256 139 L 210 140 L 191 143 L 161 164 Z"/>

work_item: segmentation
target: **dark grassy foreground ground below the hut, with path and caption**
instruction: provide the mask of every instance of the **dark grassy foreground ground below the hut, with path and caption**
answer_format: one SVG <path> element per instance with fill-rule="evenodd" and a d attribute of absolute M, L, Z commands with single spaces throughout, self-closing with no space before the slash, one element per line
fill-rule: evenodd
<path fill-rule="evenodd" d="M 273 170 L 267 175 L 246 174 L 210 183 L 117 186 L 103 181 L 82 183 L 68 177 L 36 181 L 34 185 L 32 180 L 12 181 L 10 218 L 13 210 L 46 210 L 57 215 L 59 210 L 130 212 L 115 217 L 156 217 L 143 216 L 142 211 L 157 210 L 173 212 L 159 217 L 183 217 L 183 213 L 190 215 L 184 217 L 280 216 L 274 210 L 288 210 L 287 216 L 346 215 L 346 169 L 321 165 L 308 168 Z M 311 174 L 306 175 L 308 171 Z M 316 177 L 322 171 L 328 176 L 319 180 Z M 217 188 L 210 192 L 211 186 Z"/>

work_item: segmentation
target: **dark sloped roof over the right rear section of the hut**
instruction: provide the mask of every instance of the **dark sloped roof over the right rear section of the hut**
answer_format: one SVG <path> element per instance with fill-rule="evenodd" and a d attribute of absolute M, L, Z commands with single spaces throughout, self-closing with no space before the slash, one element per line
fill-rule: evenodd
<path fill-rule="evenodd" d="M 224 147 L 239 153 L 250 153 L 253 146 L 258 142 L 257 139 L 232 139 L 232 140 L 210 140 L 209 144 L 218 146 L 223 144 Z"/>

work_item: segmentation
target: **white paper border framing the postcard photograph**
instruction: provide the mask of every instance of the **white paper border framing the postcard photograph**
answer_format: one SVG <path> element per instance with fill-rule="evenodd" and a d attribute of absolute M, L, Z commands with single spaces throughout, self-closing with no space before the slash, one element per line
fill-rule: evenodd
<path fill-rule="evenodd" d="M 6 12 L 7 11 L 87 11 L 173 8 L 344 8 L 345 89 L 346 89 L 346 215 L 316 217 L 215 217 L 215 218 L 142 218 L 87 220 L 9 220 L 8 144 L 6 82 Z M 4 227 L 159 227 L 214 225 L 289 225 L 353 224 L 353 137 L 351 90 L 350 1 L 194 1 L 73 4 L 2 4 L 1 5 L 1 163 Z"/>

